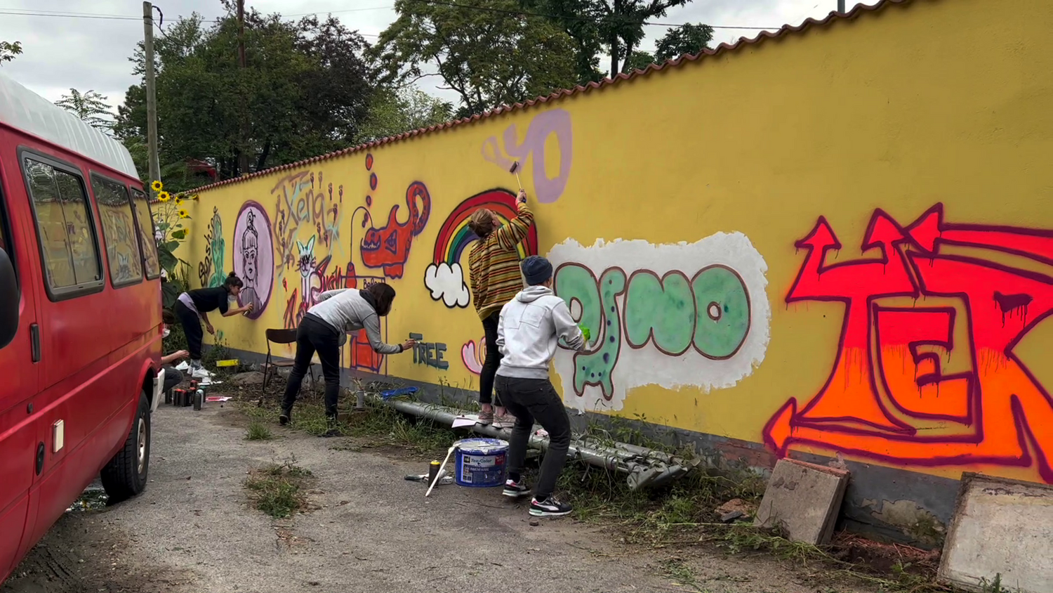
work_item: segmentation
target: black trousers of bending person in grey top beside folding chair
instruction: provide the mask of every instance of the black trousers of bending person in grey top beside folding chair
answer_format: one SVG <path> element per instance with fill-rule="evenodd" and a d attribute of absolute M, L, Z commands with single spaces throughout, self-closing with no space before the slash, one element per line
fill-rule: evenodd
<path fill-rule="evenodd" d="M 303 316 L 296 330 L 296 358 L 293 359 L 293 371 L 285 383 L 281 409 L 285 412 L 293 409 L 296 394 L 300 392 L 303 376 L 307 374 L 315 352 L 318 353 L 322 375 L 325 377 L 325 415 L 335 418 L 340 399 L 340 332 L 310 313 Z"/>

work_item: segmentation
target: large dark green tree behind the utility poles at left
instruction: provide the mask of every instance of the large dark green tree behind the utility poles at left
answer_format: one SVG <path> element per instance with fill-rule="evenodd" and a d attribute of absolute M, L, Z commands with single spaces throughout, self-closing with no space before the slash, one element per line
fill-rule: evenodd
<path fill-rule="evenodd" d="M 299 21 L 245 14 L 246 67 L 238 61 L 238 22 L 181 18 L 155 40 L 158 143 L 165 186 L 198 185 L 188 160 L 212 163 L 221 178 L 294 162 L 356 143 L 373 93 L 362 37 L 335 18 Z M 142 76 L 142 44 L 130 58 Z M 118 107 L 115 134 L 135 155 L 145 144 L 142 84 Z M 143 170 L 145 171 L 145 170 Z"/>

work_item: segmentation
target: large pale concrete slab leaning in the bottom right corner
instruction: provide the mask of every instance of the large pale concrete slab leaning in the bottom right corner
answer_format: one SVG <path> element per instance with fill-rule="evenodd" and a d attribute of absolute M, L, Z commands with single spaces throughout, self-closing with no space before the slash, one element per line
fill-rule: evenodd
<path fill-rule="evenodd" d="M 940 579 L 982 591 L 1001 574 L 1005 589 L 1053 591 L 1053 487 L 974 473 L 961 476 L 943 542 Z"/>

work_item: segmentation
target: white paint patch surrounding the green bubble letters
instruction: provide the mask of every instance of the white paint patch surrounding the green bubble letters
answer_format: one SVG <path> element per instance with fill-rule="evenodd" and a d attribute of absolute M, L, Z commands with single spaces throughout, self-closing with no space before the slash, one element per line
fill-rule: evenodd
<path fill-rule="evenodd" d="M 713 389 L 734 387 L 753 374 L 753 370 L 764 359 L 772 320 L 767 293 L 768 264 L 742 233 L 717 233 L 690 244 L 653 244 L 640 239 L 604 242 L 600 239 L 593 246 L 585 248 L 574 239 L 568 239 L 554 246 L 548 258 L 554 269 L 563 263 L 584 265 L 597 280 L 609 268 L 620 268 L 627 279 L 637 270 L 650 270 L 658 277 L 667 272 L 679 271 L 691 279 L 707 266 L 721 264 L 738 273 L 750 297 L 750 330 L 744 341 L 730 358 L 717 360 L 702 356 L 694 348 L 689 348 L 681 355 L 663 354 L 653 341 L 639 350 L 630 348 L 624 335 L 625 293 L 622 293 L 616 298 L 622 332 L 618 360 L 611 372 L 613 390 L 610 398 L 605 398 L 601 387 L 595 384 L 585 384 L 582 394 L 578 395 L 575 392 L 574 353 L 562 348 L 556 353 L 556 372 L 569 407 L 582 411 L 621 410 L 629 391 L 651 384 L 671 390 L 693 387 L 709 393 Z M 580 315 L 580 304 L 576 311 Z M 719 307 L 714 305 L 696 312 L 696 315 L 707 319 L 716 319 L 720 314 Z M 591 331 L 593 342 L 590 351 L 593 351 L 601 343 L 600 340 L 609 339 L 609 336 L 602 329 L 591 328 Z"/>

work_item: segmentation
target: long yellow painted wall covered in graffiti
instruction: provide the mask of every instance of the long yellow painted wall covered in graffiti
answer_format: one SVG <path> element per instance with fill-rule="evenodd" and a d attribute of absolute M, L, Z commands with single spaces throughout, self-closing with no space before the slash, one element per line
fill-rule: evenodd
<path fill-rule="evenodd" d="M 195 266 L 206 259 L 215 207 L 225 242 L 223 271 L 230 271 L 242 244 L 235 226 L 246 200 L 265 210 L 272 244 L 276 236 L 287 236 L 275 230 L 289 207 L 276 204 L 289 186 L 282 180 L 303 174 L 309 180 L 314 175 L 315 192 L 324 194 L 318 209 L 324 222 L 299 223 L 286 251 L 297 258 L 296 241 L 314 237 L 314 257 L 332 257 L 327 272 L 338 266 L 346 274 L 350 261 L 359 276 L 384 276 L 382 269 L 365 264 L 360 242 L 372 226 L 388 223 L 393 206 L 396 219 L 406 223 L 406 191 L 419 181 L 430 210 L 426 220 L 417 219 L 420 232 L 401 276 L 394 277 L 394 269 L 386 273 L 398 291 L 388 341 L 418 333 L 444 343 L 449 369 L 415 364 L 406 353 L 388 357 L 381 372 L 475 388 L 477 376 L 461 350 L 482 336 L 479 319 L 471 305 L 456 305 L 456 291 L 446 295 L 452 309 L 433 300 L 425 273 L 435 263 L 440 229 L 458 204 L 495 187 L 516 190 L 515 177 L 497 164 L 515 153 L 504 135 L 518 142 L 530 138 L 528 147 L 545 149 L 548 177 L 558 178 L 560 166 L 567 167 L 559 192 L 558 179 L 535 183 L 537 152 L 520 157 L 542 255 L 557 264 L 584 264 L 597 277 L 618 266 L 627 276 L 640 269 L 659 276 L 680 271 L 691 281 L 707 266 L 727 265 L 742 278 L 750 298 L 749 332 L 727 359 L 691 348 L 665 355 L 654 343 L 630 349 L 621 336 L 610 401 L 601 386 L 574 395 L 574 361 L 560 353 L 553 380 L 569 406 L 753 442 L 764 442 L 767 434 L 770 449 L 780 453 L 841 451 L 850 458 L 950 477 L 971 470 L 1053 481 L 1046 461 L 1053 459 L 1053 407 L 1042 387 L 1053 386 L 1053 370 L 1041 368 L 1053 330 L 1036 323 L 1053 311 L 1053 279 L 947 257 L 968 255 L 1036 272 L 1053 263 L 1053 248 L 1040 255 L 1044 240 L 1053 236 L 1045 234 L 1053 230 L 1051 26 L 1053 4 L 1044 0 L 889 6 L 538 108 L 206 191 L 193 205 L 194 233 L 183 256 Z M 562 140 L 552 134 L 538 141 L 547 125 L 564 130 Z M 375 191 L 371 173 L 378 179 Z M 539 190 L 550 201 L 538 202 Z M 936 213 L 913 235 L 905 230 L 936 204 L 942 204 L 945 241 L 928 243 L 937 252 L 932 257 L 905 259 L 907 251 L 918 253 L 925 237 L 933 237 Z M 365 211 L 372 224 L 363 229 Z M 795 246 L 820 217 L 843 245 L 829 252 L 828 265 L 845 265 L 823 273 L 821 226 L 811 241 L 819 245 L 815 258 L 808 259 L 803 242 Z M 872 217 L 875 249 L 861 255 Z M 999 232 L 994 225 L 1034 231 Z M 905 234 L 913 239 L 897 239 Z M 882 240 L 889 263 L 858 261 L 881 258 Z M 686 244 L 676 244 L 681 241 Z M 1032 255 L 1018 257 L 1021 253 Z M 281 248 L 272 254 L 279 263 L 262 316 L 216 323 L 233 348 L 265 352 L 263 330 L 289 324 L 287 301 L 300 289 L 301 274 L 295 264 L 280 263 Z M 466 266 L 466 254 L 461 262 Z M 450 280 L 448 273 L 439 270 L 439 279 Z M 572 280 L 568 275 L 573 289 Z M 309 281 L 320 284 L 316 277 Z M 703 319 L 696 343 L 741 329 L 735 325 L 741 298 L 734 282 L 721 281 L 703 281 L 709 293 L 699 298 L 715 298 L 720 307 L 727 300 L 729 317 L 724 325 Z M 868 314 L 869 296 L 905 294 L 922 282 L 919 298 L 879 298 L 872 304 L 882 311 Z M 298 292 L 293 311 L 302 299 Z M 971 309 L 966 299 L 937 296 L 940 292 L 968 293 Z M 831 300 L 847 295 L 854 315 L 848 321 L 845 302 Z M 639 298 L 655 302 L 654 295 Z M 625 321 L 627 303 L 618 302 L 615 328 Z M 648 308 L 630 304 L 638 322 Z M 896 308 L 902 311 L 888 311 Z M 851 325 L 845 340 L 842 325 Z M 883 333 L 874 331 L 879 325 Z M 663 331 L 676 329 L 665 323 Z M 594 334 L 599 330 L 592 328 Z M 949 351 L 920 345 L 912 353 L 910 342 L 947 341 L 948 333 Z M 1007 347 L 1020 335 L 1018 347 Z M 673 350 L 681 338 L 671 338 Z M 716 341 L 701 348 L 712 354 L 728 347 Z M 948 377 L 952 374 L 956 378 Z M 940 376 L 938 386 L 917 384 Z M 1020 436 L 1031 434 L 1034 439 Z"/>

